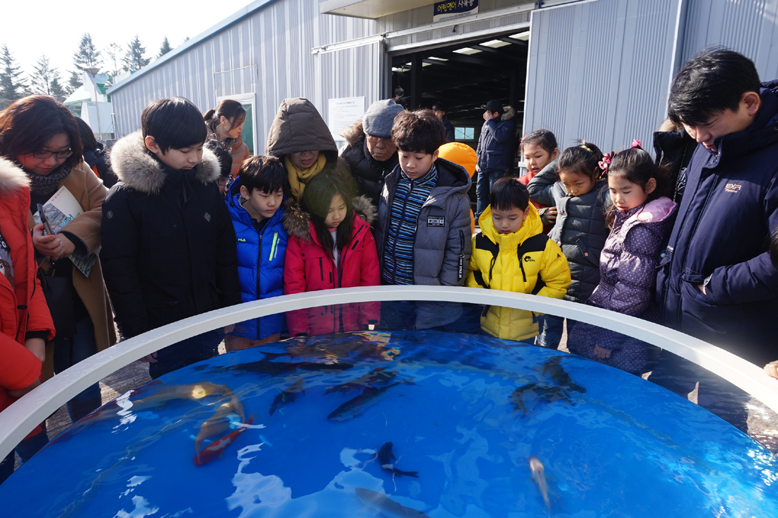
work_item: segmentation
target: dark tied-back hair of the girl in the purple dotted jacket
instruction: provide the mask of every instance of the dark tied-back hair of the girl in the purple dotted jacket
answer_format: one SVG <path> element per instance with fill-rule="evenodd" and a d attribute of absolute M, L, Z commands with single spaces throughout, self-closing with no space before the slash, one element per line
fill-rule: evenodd
<path fill-rule="evenodd" d="M 670 181 L 668 180 L 668 168 L 657 166 L 654 159 L 640 147 L 624 149 L 616 153 L 608 166 L 608 177 L 622 177 L 630 184 L 640 185 L 643 192 L 651 178 L 657 182 L 657 187 L 646 198 L 646 203 L 668 195 Z M 613 227 L 615 213 L 612 205 L 605 208 L 605 222 L 608 227 Z"/>

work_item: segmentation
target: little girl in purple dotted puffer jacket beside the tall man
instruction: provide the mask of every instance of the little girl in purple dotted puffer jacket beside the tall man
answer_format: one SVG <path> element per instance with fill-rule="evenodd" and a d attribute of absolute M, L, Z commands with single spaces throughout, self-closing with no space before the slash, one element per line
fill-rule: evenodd
<path fill-rule="evenodd" d="M 587 304 L 658 320 L 652 304 L 659 254 L 675 219 L 675 202 L 664 197 L 667 172 L 634 141 L 631 149 L 605 156 L 612 205 L 611 229 L 600 256 L 600 284 Z M 567 342 L 570 352 L 640 376 L 653 369 L 660 349 L 636 338 L 580 322 Z"/>

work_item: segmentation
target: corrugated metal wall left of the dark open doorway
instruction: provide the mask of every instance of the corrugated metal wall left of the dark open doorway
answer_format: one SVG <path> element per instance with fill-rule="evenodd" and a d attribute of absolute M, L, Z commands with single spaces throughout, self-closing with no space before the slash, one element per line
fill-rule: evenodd
<path fill-rule="evenodd" d="M 310 49 L 375 33 L 372 20 L 320 15 L 317 0 L 279 0 L 153 68 L 111 94 L 117 135 L 140 127 L 150 100 L 184 96 L 205 112 L 216 98 L 255 93 L 256 142 L 265 149 L 279 104 L 307 97 L 328 117 L 328 99 L 380 99 L 386 82 L 381 44 L 330 54 Z"/>

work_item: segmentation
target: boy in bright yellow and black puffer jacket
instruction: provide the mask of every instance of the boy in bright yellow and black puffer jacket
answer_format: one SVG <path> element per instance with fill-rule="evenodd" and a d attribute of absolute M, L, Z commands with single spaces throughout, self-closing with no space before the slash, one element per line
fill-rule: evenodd
<path fill-rule="evenodd" d="M 478 218 L 482 232 L 473 237 L 465 285 L 561 299 L 570 284 L 570 268 L 559 245 L 543 233 L 527 187 L 501 178 L 489 198 L 491 205 Z M 531 311 L 489 306 L 481 328 L 497 338 L 533 343 L 538 318 Z"/>

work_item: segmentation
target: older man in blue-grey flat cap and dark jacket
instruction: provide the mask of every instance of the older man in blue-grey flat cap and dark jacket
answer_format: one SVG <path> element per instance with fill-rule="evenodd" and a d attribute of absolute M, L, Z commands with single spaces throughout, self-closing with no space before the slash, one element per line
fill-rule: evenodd
<path fill-rule="evenodd" d="M 378 205 L 387 174 L 397 166 L 397 148 L 391 140 L 391 125 L 405 108 L 391 99 L 370 105 L 362 119 L 345 128 L 341 135 L 348 144 L 341 157 L 351 166 L 359 194 Z"/>

